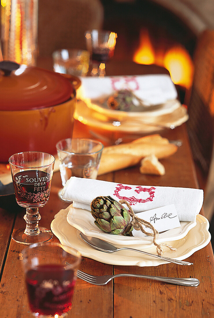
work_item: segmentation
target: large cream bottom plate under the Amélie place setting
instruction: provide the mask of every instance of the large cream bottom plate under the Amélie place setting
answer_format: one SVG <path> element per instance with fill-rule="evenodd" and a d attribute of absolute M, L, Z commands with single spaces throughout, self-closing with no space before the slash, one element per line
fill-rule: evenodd
<path fill-rule="evenodd" d="M 153 257 L 146 255 L 142 256 L 142 254 L 127 250 L 115 252 L 112 254 L 97 251 L 88 244 L 86 244 L 80 238 L 79 231 L 67 223 L 66 216 L 67 209 L 60 210 L 55 215 L 51 223 L 51 230 L 56 235 L 56 237 L 58 237 L 61 244 L 79 250 L 82 256 L 89 257 L 99 262 L 112 265 L 158 266 L 161 264 L 168 263 L 161 259 L 155 259 Z M 173 253 L 166 251 L 164 253 L 164 256 L 178 260 L 188 258 L 194 252 L 200 250 L 210 242 L 211 235 L 208 232 L 208 229 L 208 220 L 200 214 L 197 215 L 197 225 L 194 228 L 192 228 L 183 239 L 169 242 L 170 245 L 177 248 L 177 251 Z M 136 248 L 139 249 L 138 246 Z M 147 251 L 155 254 L 156 248 L 153 245 L 149 247 Z"/>

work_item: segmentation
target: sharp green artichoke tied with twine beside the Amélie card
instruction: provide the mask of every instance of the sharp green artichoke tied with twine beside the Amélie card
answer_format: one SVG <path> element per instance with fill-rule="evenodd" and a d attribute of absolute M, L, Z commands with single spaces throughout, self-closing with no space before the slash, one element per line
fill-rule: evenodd
<path fill-rule="evenodd" d="M 96 197 L 91 203 L 91 213 L 95 225 L 103 232 L 124 236 L 133 236 L 130 214 L 112 197 Z"/>

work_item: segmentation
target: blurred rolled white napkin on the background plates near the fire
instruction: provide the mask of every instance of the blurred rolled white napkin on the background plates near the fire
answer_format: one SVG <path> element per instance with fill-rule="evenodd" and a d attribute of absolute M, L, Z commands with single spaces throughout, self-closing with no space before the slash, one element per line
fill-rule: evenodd
<path fill-rule="evenodd" d="M 177 98 L 176 87 L 167 74 L 81 77 L 83 98 L 97 99 L 120 89 L 130 89 L 148 105 L 158 105 Z"/>

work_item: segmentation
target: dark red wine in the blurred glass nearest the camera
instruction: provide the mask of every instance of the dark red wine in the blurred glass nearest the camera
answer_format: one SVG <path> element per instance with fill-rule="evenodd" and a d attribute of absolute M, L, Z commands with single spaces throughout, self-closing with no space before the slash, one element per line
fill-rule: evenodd
<path fill-rule="evenodd" d="M 39 265 L 26 273 L 30 308 L 39 315 L 62 315 L 72 307 L 75 276 L 63 265 Z"/>

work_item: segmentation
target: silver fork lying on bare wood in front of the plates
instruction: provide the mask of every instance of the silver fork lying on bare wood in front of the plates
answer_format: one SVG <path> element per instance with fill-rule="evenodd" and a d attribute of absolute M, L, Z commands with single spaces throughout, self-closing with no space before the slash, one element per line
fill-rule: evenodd
<path fill-rule="evenodd" d="M 161 277 L 161 276 L 148 276 L 148 275 L 126 274 L 126 273 L 116 274 L 116 275 L 94 276 L 79 270 L 77 271 L 78 278 L 81 278 L 82 280 L 85 280 L 88 283 L 93 285 L 106 285 L 110 280 L 114 279 L 115 277 L 123 277 L 123 276 L 159 280 L 159 281 L 164 281 L 166 283 L 182 285 L 182 286 L 196 287 L 200 284 L 199 280 L 197 280 L 196 278 Z"/>

